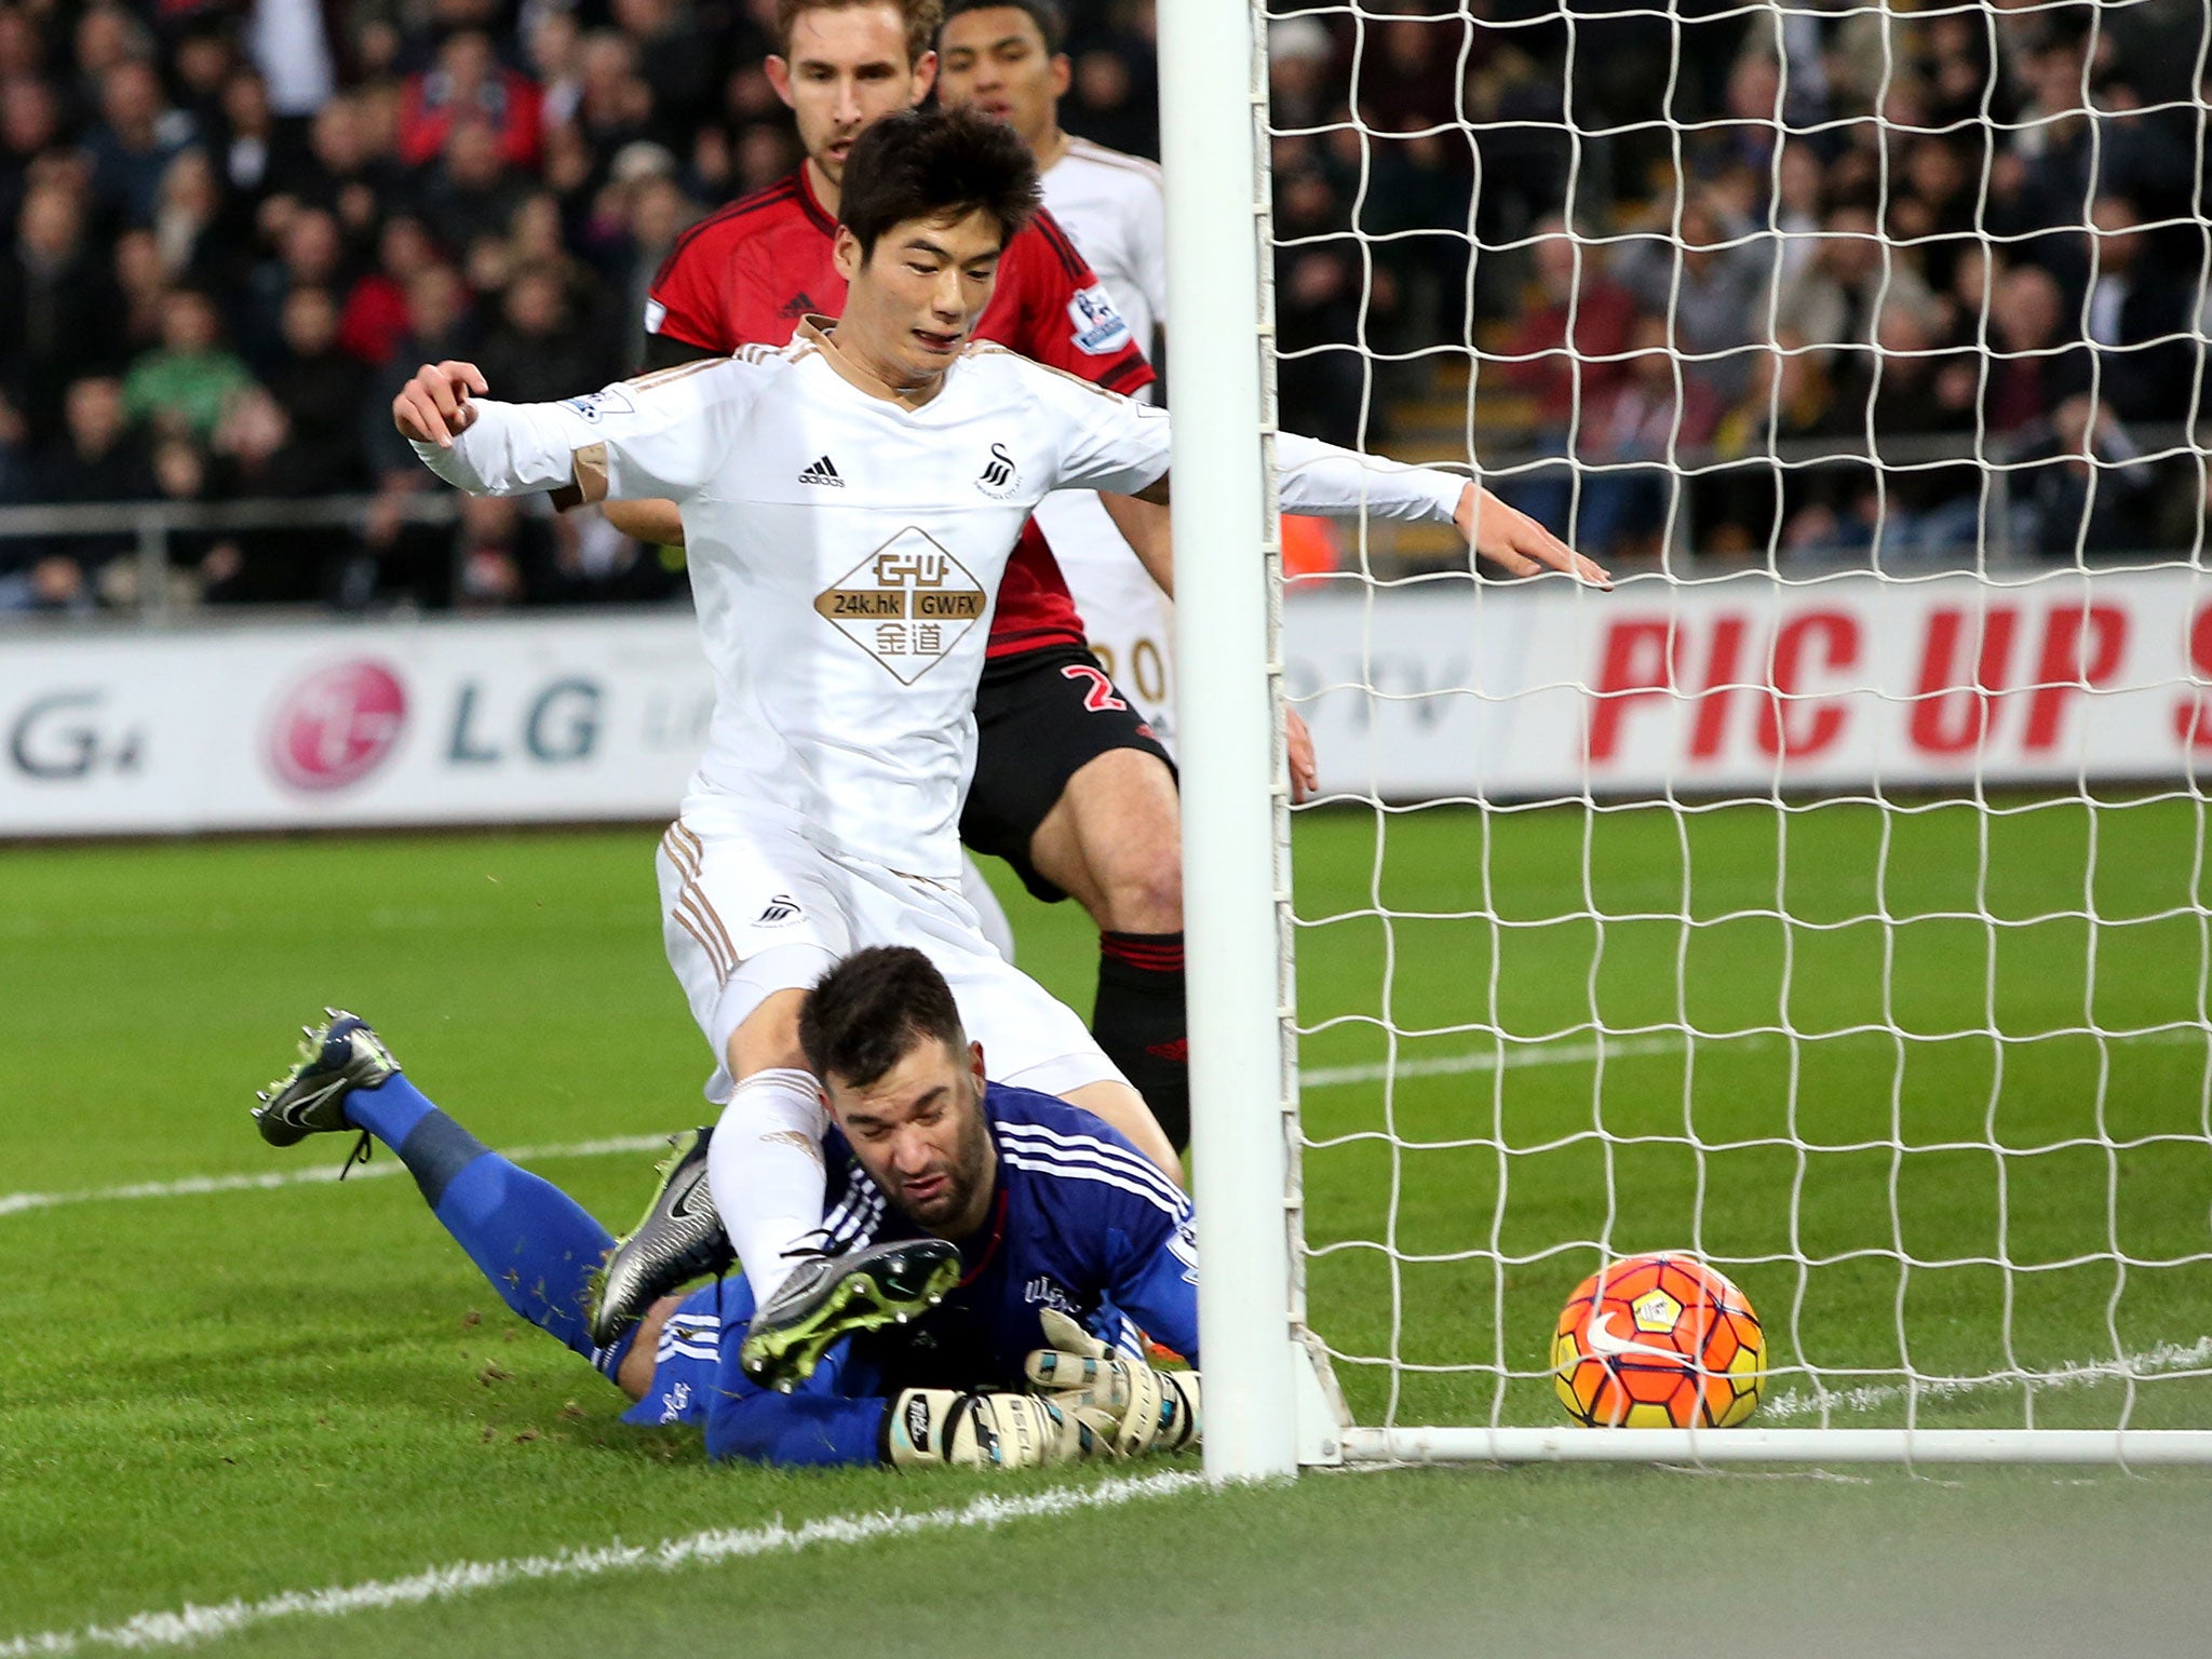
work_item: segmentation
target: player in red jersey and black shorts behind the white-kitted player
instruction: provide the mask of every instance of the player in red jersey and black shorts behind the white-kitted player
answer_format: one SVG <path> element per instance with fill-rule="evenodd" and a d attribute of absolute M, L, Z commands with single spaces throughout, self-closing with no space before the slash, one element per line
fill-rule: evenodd
<path fill-rule="evenodd" d="M 768 80 L 792 106 L 807 159 L 677 239 L 646 303 L 646 369 L 783 345 L 807 312 L 843 310 L 832 248 L 845 153 L 869 124 L 929 95 L 938 20 L 940 0 L 779 0 L 781 51 L 768 60 Z M 1110 392 L 1152 380 L 1106 290 L 1046 212 L 1006 246 L 975 338 Z M 644 540 L 684 535 L 670 502 L 606 511 Z M 1148 562 L 1166 555 L 1164 509 L 1110 502 L 1110 511 Z M 1175 770 L 1091 655 L 1035 522 L 998 591 L 975 721 L 980 752 L 960 836 L 1011 863 L 1040 898 L 1073 896 L 1091 911 L 1099 927 L 1093 1035 L 1181 1148 L 1190 1073 Z"/>

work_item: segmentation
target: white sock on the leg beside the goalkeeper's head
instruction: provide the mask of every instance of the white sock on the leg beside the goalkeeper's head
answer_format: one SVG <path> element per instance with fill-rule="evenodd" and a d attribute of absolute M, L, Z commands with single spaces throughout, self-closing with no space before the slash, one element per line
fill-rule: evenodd
<path fill-rule="evenodd" d="M 723 1232 L 765 1307 L 796 1265 L 785 1252 L 823 1223 L 830 1115 L 803 1071 L 757 1071 L 732 1093 L 706 1152 Z"/>

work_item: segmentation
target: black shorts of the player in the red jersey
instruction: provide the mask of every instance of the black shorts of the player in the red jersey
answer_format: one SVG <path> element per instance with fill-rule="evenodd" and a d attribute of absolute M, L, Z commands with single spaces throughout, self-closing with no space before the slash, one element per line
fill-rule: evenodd
<path fill-rule="evenodd" d="M 1029 863 L 1029 843 L 1068 779 L 1113 750 L 1144 750 L 1175 770 L 1144 714 L 1082 646 L 987 661 L 975 688 L 975 781 L 960 810 L 960 838 L 1013 865 L 1046 905 L 1066 894 Z"/>

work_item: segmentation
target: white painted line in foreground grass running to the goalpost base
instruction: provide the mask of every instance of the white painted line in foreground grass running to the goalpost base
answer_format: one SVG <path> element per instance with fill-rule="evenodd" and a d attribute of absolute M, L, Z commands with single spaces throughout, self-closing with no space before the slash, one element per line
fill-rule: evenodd
<path fill-rule="evenodd" d="M 95 1624 L 82 1630 L 44 1630 L 0 1641 L 0 1659 L 33 1655 L 69 1655 L 82 1648 L 184 1648 L 210 1637 L 228 1637 L 270 1619 L 314 1615 L 338 1619 L 347 1613 L 407 1608 L 425 1601 L 451 1601 L 504 1584 L 546 1579 L 588 1579 L 604 1573 L 679 1573 L 690 1566 L 741 1562 L 754 1555 L 794 1555 L 818 1544 L 874 1544 L 885 1537 L 949 1533 L 964 1526 L 1002 1526 L 1015 1520 L 1073 1515 L 1086 1509 L 1119 1509 L 1146 1498 L 1170 1498 L 1201 1486 L 1203 1475 L 1168 1471 L 1141 1480 L 1113 1480 L 1097 1486 L 1062 1486 L 1029 1498 L 978 1498 L 958 1509 L 878 1509 L 865 1515 L 827 1515 L 801 1526 L 768 1522 L 765 1526 L 714 1528 L 670 1537 L 661 1544 L 595 1544 L 524 1555 L 504 1562 L 451 1562 L 403 1579 L 372 1579 L 323 1590 L 285 1590 L 261 1601 L 221 1601 L 217 1606 L 186 1604 L 175 1613 L 139 1613 L 122 1624 Z"/>

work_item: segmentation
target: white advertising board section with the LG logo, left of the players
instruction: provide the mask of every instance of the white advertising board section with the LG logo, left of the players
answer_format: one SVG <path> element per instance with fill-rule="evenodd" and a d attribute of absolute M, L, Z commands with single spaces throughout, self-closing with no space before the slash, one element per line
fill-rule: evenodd
<path fill-rule="evenodd" d="M 672 816 L 684 613 L 0 644 L 0 834 Z"/>

